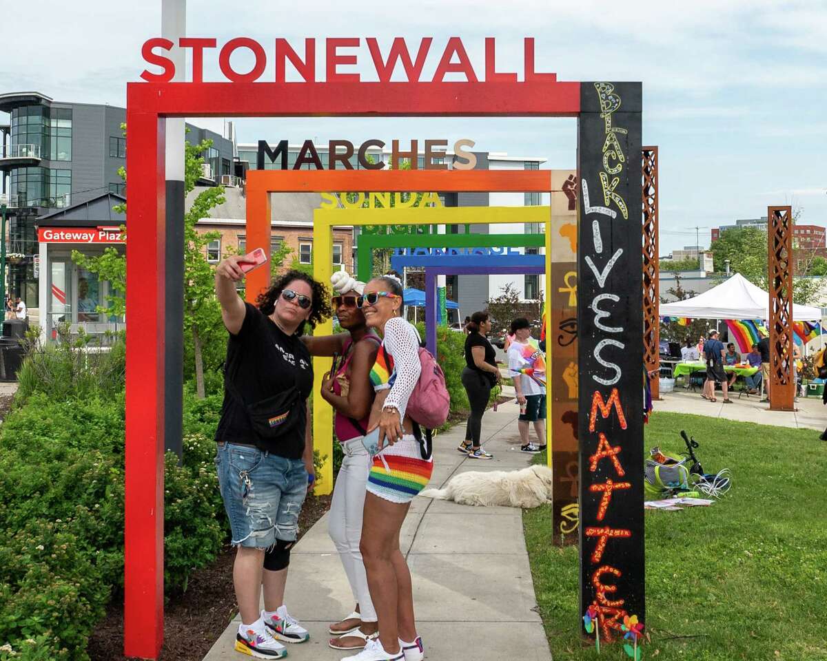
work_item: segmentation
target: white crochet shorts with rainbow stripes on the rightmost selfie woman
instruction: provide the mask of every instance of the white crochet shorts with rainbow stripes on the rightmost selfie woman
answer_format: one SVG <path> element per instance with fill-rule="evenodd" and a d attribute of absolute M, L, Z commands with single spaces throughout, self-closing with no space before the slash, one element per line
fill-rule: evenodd
<path fill-rule="evenodd" d="M 433 473 L 433 461 L 408 456 L 411 453 L 392 454 L 398 450 L 397 445 L 409 445 L 409 439 L 418 453 L 417 441 L 413 436 L 406 436 L 373 458 L 367 478 L 369 492 L 390 502 L 410 502 L 425 488 Z"/>

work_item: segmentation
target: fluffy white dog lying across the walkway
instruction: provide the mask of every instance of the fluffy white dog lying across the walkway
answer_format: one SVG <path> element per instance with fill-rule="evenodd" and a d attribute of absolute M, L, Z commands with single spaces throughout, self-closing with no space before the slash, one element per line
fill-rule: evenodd
<path fill-rule="evenodd" d="M 419 495 L 460 505 L 538 507 L 551 500 L 552 469 L 469 471 L 454 475 L 444 489 L 425 489 Z"/>

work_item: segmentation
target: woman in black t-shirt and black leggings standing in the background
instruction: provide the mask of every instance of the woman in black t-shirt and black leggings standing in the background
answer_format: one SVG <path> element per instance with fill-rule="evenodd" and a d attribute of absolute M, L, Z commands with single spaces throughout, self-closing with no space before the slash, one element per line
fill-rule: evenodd
<path fill-rule="evenodd" d="M 462 370 L 462 385 L 471 403 L 471 416 L 466 426 L 466 441 L 457 449 L 471 459 L 491 459 L 492 455 L 480 447 L 482 414 L 488 406 L 491 388 L 500 383 L 500 369 L 497 367 L 496 352 L 485 334 L 491 330 L 487 312 L 474 312 L 466 326 L 466 367 Z"/>

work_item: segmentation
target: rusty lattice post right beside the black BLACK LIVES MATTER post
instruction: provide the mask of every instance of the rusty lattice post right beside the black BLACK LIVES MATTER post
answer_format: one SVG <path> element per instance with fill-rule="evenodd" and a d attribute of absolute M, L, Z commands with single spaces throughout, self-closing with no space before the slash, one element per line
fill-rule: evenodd
<path fill-rule="evenodd" d="M 658 316 L 660 267 L 657 260 L 657 147 L 643 147 L 643 361 L 650 372 L 660 367 Z M 652 397 L 660 398 L 657 374 Z"/>

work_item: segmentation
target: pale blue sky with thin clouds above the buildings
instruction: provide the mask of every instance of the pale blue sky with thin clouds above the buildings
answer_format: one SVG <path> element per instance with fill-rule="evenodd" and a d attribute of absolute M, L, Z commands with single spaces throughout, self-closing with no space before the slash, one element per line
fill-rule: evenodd
<path fill-rule="evenodd" d="M 37 13 L 50 18 L 35 23 L 24 6 L 3 12 L 0 93 L 37 90 L 59 101 L 124 105 L 126 83 L 144 69 L 141 44 L 160 36 L 160 4 L 82 0 L 72 4 L 71 26 L 60 19 L 65 2 L 38 2 Z M 765 215 L 768 204 L 794 204 L 801 222 L 827 225 L 825 0 L 189 0 L 187 6 L 189 36 L 216 37 L 219 45 L 235 36 L 269 45 L 281 36 L 298 50 L 308 36 L 375 36 L 386 52 L 394 36 L 404 36 L 412 50 L 433 36 L 426 77 L 449 36 L 462 37 L 480 78 L 486 36 L 497 37 L 500 70 L 516 71 L 523 37 L 533 36 L 537 69 L 560 80 L 643 81 L 643 141 L 660 148 L 662 254 L 694 245 L 696 227 L 708 245 L 710 227 Z M 360 59 L 370 64 L 361 43 Z M 214 51 L 205 60 L 205 79 L 220 79 Z M 232 63 L 240 70 L 246 64 L 243 56 Z M 371 79 L 370 69 L 361 69 L 364 79 Z M 264 78 L 272 78 L 270 67 Z M 573 120 L 282 119 L 237 127 L 239 140 L 249 142 L 472 138 L 476 149 L 541 156 L 554 168 L 575 164 Z"/>

